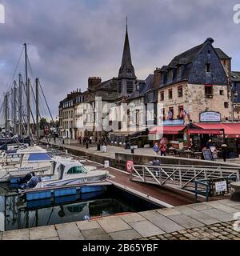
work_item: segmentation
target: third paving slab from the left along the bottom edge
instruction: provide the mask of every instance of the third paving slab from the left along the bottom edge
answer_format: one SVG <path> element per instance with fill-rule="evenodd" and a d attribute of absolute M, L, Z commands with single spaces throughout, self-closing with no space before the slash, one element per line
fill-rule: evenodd
<path fill-rule="evenodd" d="M 55 226 L 60 240 L 84 240 L 75 222 Z"/>

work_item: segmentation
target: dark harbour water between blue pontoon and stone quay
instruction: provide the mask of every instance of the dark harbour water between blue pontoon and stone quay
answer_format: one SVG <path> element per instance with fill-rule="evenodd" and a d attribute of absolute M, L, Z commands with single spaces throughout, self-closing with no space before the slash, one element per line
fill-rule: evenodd
<path fill-rule="evenodd" d="M 26 201 L 17 190 L 0 185 L 0 231 L 76 222 L 101 216 L 154 210 L 160 206 L 116 186 L 58 198 Z"/>

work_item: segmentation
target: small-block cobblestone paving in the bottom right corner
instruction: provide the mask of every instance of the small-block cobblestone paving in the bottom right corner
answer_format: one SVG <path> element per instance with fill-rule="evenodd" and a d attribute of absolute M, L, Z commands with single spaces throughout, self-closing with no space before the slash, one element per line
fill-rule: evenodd
<path fill-rule="evenodd" d="M 194 229 L 159 234 L 140 240 L 240 240 L 240 232 L 234 230 L 234 221 L 222 222 Z"/>

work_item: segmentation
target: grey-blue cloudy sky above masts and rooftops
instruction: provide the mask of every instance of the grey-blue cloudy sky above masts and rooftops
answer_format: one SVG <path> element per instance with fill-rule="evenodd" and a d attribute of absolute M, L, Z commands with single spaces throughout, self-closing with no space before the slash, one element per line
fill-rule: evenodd
<path fill-rule="evenodd" d="M 39 77 L 56 117 L 58 102 L 86 89 L 89 76 L 118 75 L 126 15 L 135 73 L 144 79 L 176 54 L 214 38 L 240 70 L 239 0 L 0 0 L 0 94 L 12 82 L 22 43 L 29 44 L 32 79 Z M 23 58 L 16 75 L 24 74 Z M 16 77 L 17 78 L 17 77 Z"/>

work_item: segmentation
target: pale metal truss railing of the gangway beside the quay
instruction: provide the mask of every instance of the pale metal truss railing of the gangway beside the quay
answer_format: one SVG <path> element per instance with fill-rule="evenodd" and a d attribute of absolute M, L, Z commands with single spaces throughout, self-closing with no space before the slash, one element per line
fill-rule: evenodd
<path fill-rule="evenodd" d="M 240 166 L 134 165 L 130 172 L 130 180 L 194 190 L 196 180 L 234 178 L 239 181 L 239 174 Z"/>

